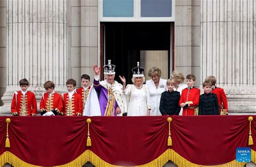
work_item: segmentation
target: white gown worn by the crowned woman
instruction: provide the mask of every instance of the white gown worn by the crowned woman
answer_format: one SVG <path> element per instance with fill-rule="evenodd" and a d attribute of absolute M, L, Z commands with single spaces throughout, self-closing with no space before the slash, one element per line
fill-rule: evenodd
<path fill-rule="evenodd" d="M 149 90 L 146 85 L 143 84 L 141 89 L 136 88 L 133 84 L 127 85 L 124 94 L 130 97 L 127 116 L 147 115 L 147 109 L 151 109 L 151 107 Z"/>

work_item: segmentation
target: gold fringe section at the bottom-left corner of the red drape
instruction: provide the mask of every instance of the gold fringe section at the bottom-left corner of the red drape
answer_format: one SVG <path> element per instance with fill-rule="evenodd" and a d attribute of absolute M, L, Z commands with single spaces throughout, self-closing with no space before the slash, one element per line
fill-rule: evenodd
<path fill-rule="evenodd" d="M 17 156 L 15 156 L 9 151 L 5 151 L 0 156 L 0 165 L 4 166 L 6 163 L 11 164 L 12 166 L 23 166 L 23 167 L 36 166 L 36 165 L 28 164 L 22 161 L 21 159 L 19 159 Z"/>

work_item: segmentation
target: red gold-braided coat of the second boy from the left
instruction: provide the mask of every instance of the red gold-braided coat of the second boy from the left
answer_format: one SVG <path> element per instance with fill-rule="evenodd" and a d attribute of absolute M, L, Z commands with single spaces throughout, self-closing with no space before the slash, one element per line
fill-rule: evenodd
<path fill-rule="evenodd" d="M 58 114 L 63 115 L 62 95 L 54 92 L 51 95 L 51 99 L 49 98 L 50 95 L 45 92 L 40 102 L 40 112 L 43 112 L 43 110 L 45 110 L 45 112 L 51 112 L 56 109 Z"/>

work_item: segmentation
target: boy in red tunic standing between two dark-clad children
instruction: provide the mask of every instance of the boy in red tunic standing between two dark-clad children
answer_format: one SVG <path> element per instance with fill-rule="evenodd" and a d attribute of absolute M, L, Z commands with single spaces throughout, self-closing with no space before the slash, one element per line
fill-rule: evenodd
<path fill-rule="evenodd" d="M 196 77 L 193 74 L 186 76 L 187 88 L 181 92 L 179 106 L 183 108 L 182 115 L 194 115 L 194 109 L 198 107 L 200 90 L 194 87 Z"/>

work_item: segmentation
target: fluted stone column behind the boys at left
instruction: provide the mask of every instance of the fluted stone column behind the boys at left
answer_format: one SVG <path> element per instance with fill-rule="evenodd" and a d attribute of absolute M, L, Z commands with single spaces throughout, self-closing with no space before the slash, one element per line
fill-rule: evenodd
<path fill-rule="evenodd" d="M 67 79 L 67 0 L 7 0 L 7 76 L 4 106 L 10 113 L 18 81 L 26 78 L 30 90 L 41 99 L 43 83 L 55 82 L 57 92 L 65 91 Z"/>

